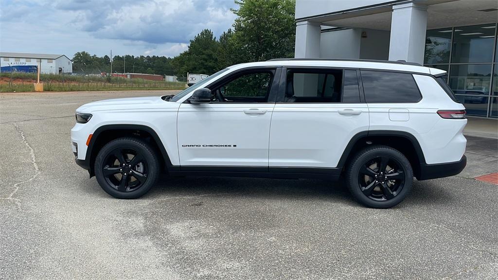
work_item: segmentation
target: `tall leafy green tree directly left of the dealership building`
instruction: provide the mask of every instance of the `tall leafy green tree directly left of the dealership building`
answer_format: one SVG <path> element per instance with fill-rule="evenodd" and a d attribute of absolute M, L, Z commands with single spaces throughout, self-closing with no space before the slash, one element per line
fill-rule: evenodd
<path fill-rule="evenodd" d="M 234 23 L 237 62 L 264 61 L 294 56 L 295 0 L 235 0 Z"/>

